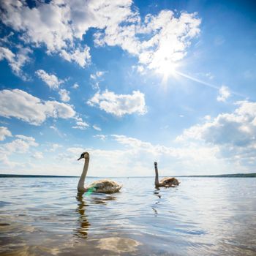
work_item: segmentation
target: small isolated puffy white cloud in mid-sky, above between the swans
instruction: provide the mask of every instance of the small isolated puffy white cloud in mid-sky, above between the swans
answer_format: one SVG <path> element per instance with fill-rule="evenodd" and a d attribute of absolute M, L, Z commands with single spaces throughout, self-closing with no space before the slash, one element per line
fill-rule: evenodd
<path fill-rule="evenodd" d="M 132 91 L 132 94 L 115 94 L 108 90 L 102 94 L 97 92 L 87 103 L 91 106 L 99 106 L 101 110 L 115 116 L 146 113 L 145 96 L 140 91 Z"/>

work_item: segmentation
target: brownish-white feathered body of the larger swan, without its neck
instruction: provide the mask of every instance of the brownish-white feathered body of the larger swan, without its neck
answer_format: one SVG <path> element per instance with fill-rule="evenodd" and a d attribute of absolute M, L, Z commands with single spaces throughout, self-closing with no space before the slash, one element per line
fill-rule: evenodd
<path fill-rule="evenodd" d="M 94 192 L 99 193 L 116 193 L 121 189 L 121 185 L 117 184 L 115 181 L 102 179 L 94 181 L 89 187 L 86 187 L 86 189 L 92 189 Z"/>

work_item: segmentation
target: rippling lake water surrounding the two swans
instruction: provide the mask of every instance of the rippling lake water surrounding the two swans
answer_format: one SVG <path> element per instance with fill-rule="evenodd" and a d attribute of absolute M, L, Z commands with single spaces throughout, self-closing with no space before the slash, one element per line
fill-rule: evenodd
<path fill-rule="evenodd" d="M 0 178 L 0 255 L 256 255 L 256 178 L 115 180 L 81 197 L 78 178 Z"/>

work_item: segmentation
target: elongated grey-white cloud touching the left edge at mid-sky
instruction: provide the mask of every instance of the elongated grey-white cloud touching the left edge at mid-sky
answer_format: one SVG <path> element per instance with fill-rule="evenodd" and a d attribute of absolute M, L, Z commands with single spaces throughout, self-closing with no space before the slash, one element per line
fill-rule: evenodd
<path fill-rule="evenodd" d="M 75 110 L 72 105 L 42 101 L 26 91 L 13 89 L 0 91 L 0 116 L 15 117 L 29 124 L 39 125 L 48 117 L 74 118 Z"/>

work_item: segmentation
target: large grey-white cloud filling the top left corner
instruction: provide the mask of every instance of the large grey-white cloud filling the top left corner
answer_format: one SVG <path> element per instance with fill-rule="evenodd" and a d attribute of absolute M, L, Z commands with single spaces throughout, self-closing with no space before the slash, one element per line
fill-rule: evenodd
<path fill-rule="evenodd" d="M 130 0 L 59 0 L 37 2 L 36 7 L 30 8 L 25 1 L 10 0 L 1 4 L 1 20 L 20 31 L 27 44 L 44 44 L 48 53 L 59 53 L 67 61 L 86 67 L 91 56 L 89 47 L 79 44 L 83 34 L 90 28 L 105 29 L 121 23 L 131 13 L 131 4 Z"/>

